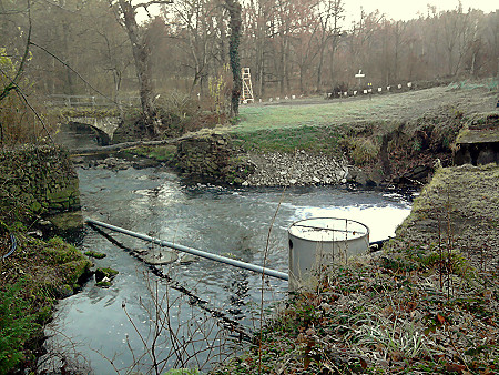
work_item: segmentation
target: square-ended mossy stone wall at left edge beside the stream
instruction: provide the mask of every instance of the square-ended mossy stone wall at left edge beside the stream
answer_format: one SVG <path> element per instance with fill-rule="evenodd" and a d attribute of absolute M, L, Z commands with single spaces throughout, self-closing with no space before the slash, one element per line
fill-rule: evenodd
<path fill-rule="evenodd" d="M 0 210 L 22 220 L 80 209 L 78 175 L 59 146 L 0 151 Z"/>

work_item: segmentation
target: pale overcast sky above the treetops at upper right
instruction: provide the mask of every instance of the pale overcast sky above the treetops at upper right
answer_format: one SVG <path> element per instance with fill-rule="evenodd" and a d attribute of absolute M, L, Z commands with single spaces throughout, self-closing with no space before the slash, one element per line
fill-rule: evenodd
<path fill-rule="evenodd" d="M 388 19 L 394 20 L 409 20 L 418 17 L 418 12 L 426 14 L 427 4 L 435 4 L 437 11 L 455 9 L 458 6 L 458 0 L 344 0 L 348 19 L 358 19 L 360 14 L 360 7 L 366 13 L 370 13 L 379 9 Z M 499 1 L 497 0 L 462 0 L 462 10 L 466 12 L 468 8 L 481 9 L 486 13 L 499 9 Z"/>

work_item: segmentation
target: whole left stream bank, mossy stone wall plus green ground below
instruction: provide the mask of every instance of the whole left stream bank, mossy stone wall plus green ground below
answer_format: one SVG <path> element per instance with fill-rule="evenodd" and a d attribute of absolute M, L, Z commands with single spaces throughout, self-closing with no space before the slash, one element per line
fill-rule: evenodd
<path fill-rule="evenodd" d="M 54 223 L 67 225 L 69 216 L 82 225 L 68 152 L 2 150 L 0 161 L 0 373 L 6 374 L 34 368 L 58 298 L 80 288 L 92 263 L 59 237 L 41 240 L 53 235 Z"/>

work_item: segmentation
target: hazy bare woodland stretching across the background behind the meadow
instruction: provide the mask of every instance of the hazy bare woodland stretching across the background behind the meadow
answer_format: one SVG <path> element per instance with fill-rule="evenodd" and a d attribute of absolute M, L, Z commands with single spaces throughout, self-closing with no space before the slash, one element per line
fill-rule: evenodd
<path fill-rule="evenodd" d="M 155 95 L 181 92 L 214 107 L 217 95 L 230 97 L 232 90 L 231 41 L 241 59 L 237 68 L 251 69 L 255 97 L 264 99 L 352 89 L 359 69 L 375 87 L 498 74 L 497 11 L 456 2 L 446 11 L 428 6 L 426 14 L 409 21 L 363 11 L 348 23 L 345 3 L 1 0 L 1 82 L 6 85 L 24 63 L 23 93 L 32 100 L 116 99 L 139 95 L 145 84 Z M 234 10 L 241 12 L 235 27 Z M 144 55 L 146 67 L 138 68 Z"/>

